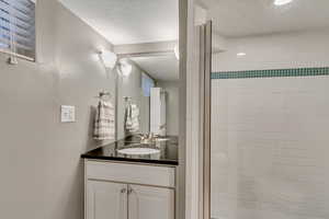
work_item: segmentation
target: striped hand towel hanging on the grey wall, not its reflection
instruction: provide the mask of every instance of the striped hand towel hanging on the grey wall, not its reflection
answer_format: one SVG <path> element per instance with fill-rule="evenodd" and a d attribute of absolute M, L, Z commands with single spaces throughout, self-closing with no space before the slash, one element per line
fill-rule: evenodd
<path fill-rule="evenodd" d="M 115 136 L 114 106 L 110 101 L 100 101 L 94 119 L 93 138 L 112 140 Z"/>

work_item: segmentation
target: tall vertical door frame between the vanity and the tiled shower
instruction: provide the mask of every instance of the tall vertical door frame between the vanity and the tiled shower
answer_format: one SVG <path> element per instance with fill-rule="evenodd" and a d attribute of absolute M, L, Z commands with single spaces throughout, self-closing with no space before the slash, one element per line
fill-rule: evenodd
<path fill-rule="evenodd" d="M 180 134 L 177 219 L 211 218 L 211 65 L 212 22 L 207 22 L 204 35 L 204 56 L 201 56 L 200 27 L 195 26 L 195 0 L 179 0 L 180 16 Z M 204 41 L 203 41 L 204 42 Z M 207 49 L 206 49 L 207 48 Z M 206 49 L 206 50 L 205 50 Z M 201 69 L 201 64 L 208 67 Z M 205 76 L 207 71 L 207 76 Z M 203 72 L 203 73 L 201 73 Z M 204 78 L 201 84 L 200 77 Z M 207 82 L 207 83 L 205 83 Z M 203 89 L 201 88 L 203 85 Z M 203 92 L 201 92 L 203 91 Z M 204 102 L 204 104 L 201 104 Z M 207 105 L 207 107 L 203 107 Z M 206 113 L 208 112 L 208 113 Z M 206 113 L 206 114 L 205 114 Z M 207 116 L 205 116 L 207 115 Z M 206 146 L 206 147 L 204 147 Z M 204 186 L 206 185 L 206 186 Z M 205 201 L 204 201 L 205 200 Z"/>

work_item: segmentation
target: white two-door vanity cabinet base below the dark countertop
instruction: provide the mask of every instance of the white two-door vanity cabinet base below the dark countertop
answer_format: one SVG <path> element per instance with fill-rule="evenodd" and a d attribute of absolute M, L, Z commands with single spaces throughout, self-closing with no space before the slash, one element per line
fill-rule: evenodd
<path fill-rule="evenodd" d="M 87 160 L 86 219 L 174 219 L 174 166 Z"/>

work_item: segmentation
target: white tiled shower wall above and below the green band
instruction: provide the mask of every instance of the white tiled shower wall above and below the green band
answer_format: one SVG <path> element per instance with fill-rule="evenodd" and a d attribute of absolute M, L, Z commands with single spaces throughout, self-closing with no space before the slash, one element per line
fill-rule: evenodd
<path fill-rule="evenodd" d="M 328 33 L 235 39 L 213 71 L 329 66 Z M 329 76 L 213 79 L 212 92 L 212 217 L 329 218 Z"/>

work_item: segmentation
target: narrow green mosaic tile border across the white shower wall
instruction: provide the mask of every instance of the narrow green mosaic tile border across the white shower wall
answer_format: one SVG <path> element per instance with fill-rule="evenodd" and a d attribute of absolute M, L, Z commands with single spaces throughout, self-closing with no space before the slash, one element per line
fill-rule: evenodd
<path fill-rule="evenodd" d="M 213 72 L 212 79 L 248 79 L 248 78 L 315 77 L 315 76 L 329 76 L 329 67 L 248 70 L 248 71 L 219 71 L 219 72 Z"/>

